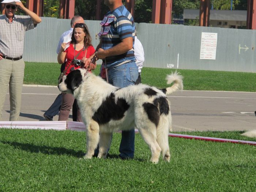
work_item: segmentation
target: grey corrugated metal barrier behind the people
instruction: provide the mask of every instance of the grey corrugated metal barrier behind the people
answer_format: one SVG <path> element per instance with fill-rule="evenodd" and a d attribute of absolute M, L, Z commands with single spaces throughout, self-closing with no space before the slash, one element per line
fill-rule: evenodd
<path fill-rule="evenodd" d="M 100 21 L 85 23 L 96 48 Z M 26 32 L 25 61 L 57 63 L 59 38 L 69 28 L 69 19 L 42 18 L 34 30 Z M 136 23 L 136 28 L 145 52 L 145 67 L 256 72 L 256 30 L 150 23 Z M 215 60 L 200 59 L 202 32 L 218 34 Z"/>

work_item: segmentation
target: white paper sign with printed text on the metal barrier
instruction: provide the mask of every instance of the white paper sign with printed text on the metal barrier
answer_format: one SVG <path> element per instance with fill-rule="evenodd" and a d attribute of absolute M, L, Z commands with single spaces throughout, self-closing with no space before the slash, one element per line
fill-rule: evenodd
<path fill-rule="evenodd" d="M 217 33 L 204 33 L 201 37 L 200 59 L 216 59 Z"/>

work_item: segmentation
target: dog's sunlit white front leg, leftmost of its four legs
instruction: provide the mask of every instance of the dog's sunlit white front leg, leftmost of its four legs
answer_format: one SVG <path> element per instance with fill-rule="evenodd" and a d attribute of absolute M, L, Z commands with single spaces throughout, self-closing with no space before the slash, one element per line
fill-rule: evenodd
<path fill-rule="evenodd" d="M 94 154 L 94 150 L 99 143 L 99 124 L 91 120 L 89 124 L 87 124 L 86 128 L 86 155 L 84 158 L 91 159 Z"/>

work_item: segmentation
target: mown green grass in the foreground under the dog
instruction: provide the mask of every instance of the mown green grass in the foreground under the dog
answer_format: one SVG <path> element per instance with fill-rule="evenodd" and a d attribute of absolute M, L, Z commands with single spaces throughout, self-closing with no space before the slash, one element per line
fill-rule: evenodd
<path fill-rule="evenodd" d="M 184 134 L 185 132 L 182 132 Z M 191 135 L 247 139 L 241 132 Z M 150 150 L 135 136 L 135 158 L 83 159 L 85 133 L 0 129 L 0 191 L 255 191 L 256 147 L 169 138 L 171 161 L 152 164 Z M 253 140 L 253 139 L 250 139 Z"/>

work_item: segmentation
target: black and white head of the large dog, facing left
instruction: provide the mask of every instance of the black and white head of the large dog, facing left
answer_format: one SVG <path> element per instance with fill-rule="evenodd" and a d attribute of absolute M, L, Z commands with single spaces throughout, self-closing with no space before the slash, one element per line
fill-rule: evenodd
<path fill-rule="evenodd" d="M 58 85 L 61 92 L 74 94 L 74 91 L 82 84 L 84 76 L 88 71 L 86 69 L 76 69 L 71 71 L 66 79 Z"/>

